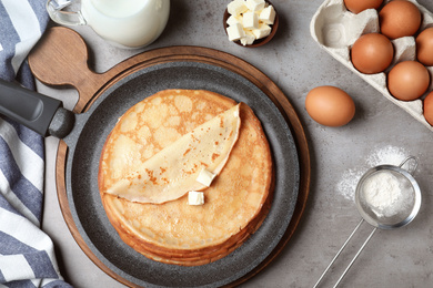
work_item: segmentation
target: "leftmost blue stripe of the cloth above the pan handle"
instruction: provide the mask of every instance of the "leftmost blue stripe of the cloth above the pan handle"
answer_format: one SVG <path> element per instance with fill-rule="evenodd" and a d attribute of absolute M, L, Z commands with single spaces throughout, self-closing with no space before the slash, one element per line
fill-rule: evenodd
<path fill-rule="evenodd" d="M 7 81 L 12 81 L 16 75 L 11 59 L 16 53 L 16 43 L 20 42 L 20 38 L 13 28 L 2 1 L 0 1 L 0 44 L 3 48 L 0 51 L 0 76 Z"/>

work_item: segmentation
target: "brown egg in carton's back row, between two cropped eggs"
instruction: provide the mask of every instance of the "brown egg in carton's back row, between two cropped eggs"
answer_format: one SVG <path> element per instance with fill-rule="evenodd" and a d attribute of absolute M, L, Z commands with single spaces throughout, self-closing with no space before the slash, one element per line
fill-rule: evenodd
<path fill-rule="evenodd" d="M 381 33 L 390 39 L 410 37 L 421 25 L 421 12 L 417 7 L 405 0 L 394 0 L 379 12 Z"/>

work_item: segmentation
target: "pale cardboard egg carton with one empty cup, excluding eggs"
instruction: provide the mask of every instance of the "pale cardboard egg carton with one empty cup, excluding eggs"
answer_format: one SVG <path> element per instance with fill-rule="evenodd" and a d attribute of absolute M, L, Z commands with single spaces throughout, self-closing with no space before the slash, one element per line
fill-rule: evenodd
<path fill-rule="evenodd" d="M 392 0 L 385 0 L 384 4 Z M 419 31 L 433 27 L 433 13 L 420 6 L 415 0 L 407 0 L 417 6 L 422 14 L 422 23 Z M 390 68 L 377 74 L 363 74 L 359 72 L 351 62 L 350 51 L 353 43 L 363 34 L 380 32 L 379 12 L 375 9 L 367 9 L 359 14 L 354 14 L 344 6 L 343 0 L 325 0 L 310 23 L 312 38 L 319 45 L 328 51 L 333 58 L 346 68 L 374 86 L 386 99 L 402 107 L 427 128 L 433 131 L 423 115 L 422 97 L 414 101 L 400 101 L 392 96 L 386 88 L 386 74 L 393 65 L 401 61 L 416 60 L 415 37 L 404 37 L 392 40 L 394 45 L 394 59 Z M 427 66 L 433 80 L 433 66 Z M 425 94 L 433 90 L 433 81 Z"/>

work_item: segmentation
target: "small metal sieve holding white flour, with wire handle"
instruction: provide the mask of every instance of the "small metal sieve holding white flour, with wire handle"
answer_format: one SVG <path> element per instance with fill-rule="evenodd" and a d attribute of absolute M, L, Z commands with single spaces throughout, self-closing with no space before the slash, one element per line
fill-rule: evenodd
<path fill-rule="evenodd" d="M 370 168 L 359 181 L 355 192 L 355 203 L 359 213 L 361 214 L 361 222 L 353 229 L 346 241 L 336 253 L 326 269 L 323 271 L 314 288 L 319 286 L 323 277 L 330 270 L 336 258 L 344 250 L 345 246 L 352 239 L 353 235 L 365 220 L 374 228 L 362 244 L 351 263 L 348 265 L 334 287 L 339 286 L 343 277 L 348 274 L 353 263 L 360 256 L 373 234 L 377 228 L 380 229 L 395 229 L 410 224 L 417 215 L 421 207 L 421 189 L 416 181 L 412 176 L 417 167 L 417 161 L 414 156 L 404 160 L 399 166 L 380 165 Z M 382 177 L 379 186 L 377 177 Z M 393 193 L 384 195 L 384 193 L 394 186 L 401 194 L 395 197 Z M 380 202 L 383 200 L 383 202 Z M 384 204 L 383 204 L 384 203 Z"/>

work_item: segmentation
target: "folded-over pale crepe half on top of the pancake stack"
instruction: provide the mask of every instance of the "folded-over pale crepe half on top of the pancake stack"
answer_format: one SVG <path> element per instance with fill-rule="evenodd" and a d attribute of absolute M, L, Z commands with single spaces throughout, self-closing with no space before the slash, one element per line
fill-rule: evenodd
<path fill-rule="evenodd" d="M 107 193 L 140 203 L 164 203 L 190 191 L 202 191 L 198 182 L 205 169 L 218 175 L 238 140 L 240 104 L 184 134 L 122 177 Z"/>

